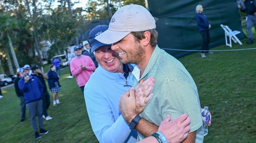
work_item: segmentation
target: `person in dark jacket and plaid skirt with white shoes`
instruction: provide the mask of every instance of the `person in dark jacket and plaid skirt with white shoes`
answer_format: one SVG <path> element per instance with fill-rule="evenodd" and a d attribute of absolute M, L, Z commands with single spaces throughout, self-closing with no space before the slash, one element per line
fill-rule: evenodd
<path fill-rule="evenodd" d="M 56 106 L 57 104 L 60 104 L 58 92 L 61 90 L 60 83 L 59 83 L 59 76 L 56 74 L 56 67 L 54 65 L 50 66 L 50 70 L 48 71 L 48 85 L 51 89 L 51 92 L 53 93 L 53 106 Z"/>

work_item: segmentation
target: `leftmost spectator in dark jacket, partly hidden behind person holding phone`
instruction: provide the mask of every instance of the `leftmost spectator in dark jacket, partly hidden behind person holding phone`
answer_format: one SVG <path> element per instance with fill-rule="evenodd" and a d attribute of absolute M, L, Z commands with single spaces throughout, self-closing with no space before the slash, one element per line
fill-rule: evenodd
<path fill-rule="evenodd" d="M 22 123 L 24 122 L 26 117 L 26 101 L 23 93 L 19 90 L 19 80 L 21 79 L 21 77 L 23 77 L 23 74 L 21 73 L 21 68 L 17 69 L 16 75 L 17 77 L 14 79 L 13 83 L 14 83 L 16 95 L 19 97 L 19 101 L 20 101 L 20 118 L 21 118 L 20 122 Z"/>

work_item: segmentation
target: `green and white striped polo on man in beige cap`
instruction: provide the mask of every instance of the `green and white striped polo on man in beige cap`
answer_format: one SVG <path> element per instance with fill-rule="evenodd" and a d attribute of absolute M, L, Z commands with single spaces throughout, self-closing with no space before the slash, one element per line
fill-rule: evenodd
<path fill-rule="evenodd" d="M 142 118 L 159 126 L 167 114 L 170 114 L 171 120 L 174 120 L 186 113 L 191 119 L 189 133 L 197 131 L 196 143 L 203 142 L 203 122 L 197 87 L 180 61 L 156 46 L 141 78 L 137 66 L 132 74 L 135 89 L 138 88 L 141 79 L 155 78 L 151 91 L 153 97 L 141 112 Z M 142 139 L 144 136 L 138 133 L 137 140 Z"/>

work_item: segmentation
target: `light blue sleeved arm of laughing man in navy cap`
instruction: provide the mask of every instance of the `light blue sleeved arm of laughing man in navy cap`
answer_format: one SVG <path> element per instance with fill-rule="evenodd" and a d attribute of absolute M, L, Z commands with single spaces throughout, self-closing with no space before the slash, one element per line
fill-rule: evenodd
<path fill-rule="evenodd" d="M 86 109 L 95 136 L 103 143 L 125 142 L 131 132 L 129 125 L 122 115 L 115 119 L 113 112 L 119 112 L 118 109 L 113 111 L 104 95 L 97 92 L 86 88 L 84 91 Z"/>

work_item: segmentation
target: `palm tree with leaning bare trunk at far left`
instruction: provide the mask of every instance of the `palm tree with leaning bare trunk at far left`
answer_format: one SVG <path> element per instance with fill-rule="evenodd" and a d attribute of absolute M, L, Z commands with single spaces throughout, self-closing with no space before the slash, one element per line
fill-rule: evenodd
<path fill-rule="evenodd" d="M 0 25 L 1 38 L 7 37 L 8 43 L 10 46 L 10 51 L 13 57 L 14 65 L 15 65 L 15 68 L 17 69 L 19 68 L 19 63 L 13 49 L 13 44 L 12 44 L 10 34 L 13 32 L 13 29 L 18 27 L 18 23 L 15 18 L 12 18 L 10 15 L 6 15 L 6 14 L 0 14 L 0 23 L 1 23 Z M 7 50 L 5 50 L 5 52 L 7 52 Z M 8 53 L 6 54 L 8 55 Z M 8 63 L 10 64 L 11 63 L 10 58 L 8 58 L 7 60 L 8 60 Z M 14 74 L 13 67 L 11 66 L 10 68 L 11 68 L 10 73 Z"/>

